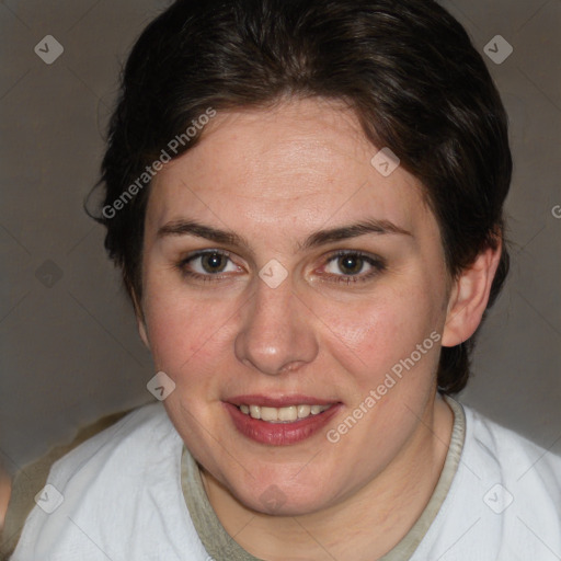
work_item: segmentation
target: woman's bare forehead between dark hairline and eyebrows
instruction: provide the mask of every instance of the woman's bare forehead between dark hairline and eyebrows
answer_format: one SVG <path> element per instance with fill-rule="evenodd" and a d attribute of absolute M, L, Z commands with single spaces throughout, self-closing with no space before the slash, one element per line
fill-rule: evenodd
<path fill-rule="evenodd" d="M 379 173 L 380 148 L 351 110 L 327 100 L 218 114 L 159 172 L 148 219 L 158 227 L 188 211 L 278 229 L 375 216 L 411 228 L 427 213 L 422 186 L 402 167 Z"/>

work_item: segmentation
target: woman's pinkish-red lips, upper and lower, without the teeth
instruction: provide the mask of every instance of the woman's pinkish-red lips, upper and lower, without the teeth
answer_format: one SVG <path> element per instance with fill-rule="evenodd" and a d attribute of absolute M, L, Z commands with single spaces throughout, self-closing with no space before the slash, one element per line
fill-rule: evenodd
<path fill-rule="evenodd" d="M 256 396 L 252 396 L 251 398 L 255 398 Z M 244 400 L 248 396 L 243 397 Z M 288 405 L 294 405 L 296 403 L 300 404 L 318 404 L 318 405 L 327 405 L 330 402 L 319 402 L 318 400 L 311 400 L 311 403 L 308 400 L 294 401 L 294 396 L 290 397 L 288 401 Z M 278 403 L 283 400 L 275 399 L 261 399 L 255 400 L 251 399 L 249 401 L 241 401 L 240 404 L 251 403 L 257 404 L 263 403 L 265 407 L 287 407 L 285 405 L 270 405 L 268 403 Z M 332 402 L 331 402 L 332 403 Z M 265 421 L 261 421 L 259 419 L 253 419 L 245 413 L 242 413 L 234 404 L 231 402 L 224 402 L 224 405 L 228 410 L 230 417 L 233 422 L 233 426 L 237 431 L 250 438 L 253 442 L 259 444 L 265 444 L 268 446 L 289 446 L 291 444 L 296 444 L 307 438 L 310 438 L 314 434 L 317 434 L 322 427 L 324 427 L 331 419 L 339 412 L 342 408 L 342 403 L 335 403 L 333 407 L 324 411 L 323 413 L 319 413 L 317 415 L 310 415 L 306 419 L 300 419 L 293 423 L 267 423 Z"/>

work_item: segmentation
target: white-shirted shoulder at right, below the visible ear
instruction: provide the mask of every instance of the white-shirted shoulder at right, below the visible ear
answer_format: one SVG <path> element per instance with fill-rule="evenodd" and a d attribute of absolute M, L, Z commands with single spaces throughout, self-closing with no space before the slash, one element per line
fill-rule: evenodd
<path fill-rule="evenodd" d="M 413 560 L 556 561 L 561 458 L 462 405 L 458 470 Z"/>

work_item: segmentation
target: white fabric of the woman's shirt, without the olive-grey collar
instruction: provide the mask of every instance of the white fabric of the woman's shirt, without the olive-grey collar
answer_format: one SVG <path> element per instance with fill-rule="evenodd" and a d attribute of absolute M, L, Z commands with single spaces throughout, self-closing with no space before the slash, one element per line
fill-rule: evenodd
<path fill-rule="evenodd" d="M 559 561 L 561 458 L 463 409 L 458 470 L 410 561 Z M 12 561 L 211 561 L 182 450 L 160 403 L 83 443 L 53 466 Z"/>

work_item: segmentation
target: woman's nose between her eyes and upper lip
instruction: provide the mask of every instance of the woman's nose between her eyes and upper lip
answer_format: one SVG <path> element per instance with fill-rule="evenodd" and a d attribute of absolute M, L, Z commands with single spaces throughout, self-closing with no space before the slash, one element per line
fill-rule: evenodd
<path fill-rule="evenodd" d="M 293 293 L 289 277 L 276 288 L 260 278 L 256 284 L 236 336 L 237 358 L 270 376 L 311 363 L 318 354 L 312 316 Z"/>

